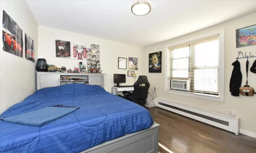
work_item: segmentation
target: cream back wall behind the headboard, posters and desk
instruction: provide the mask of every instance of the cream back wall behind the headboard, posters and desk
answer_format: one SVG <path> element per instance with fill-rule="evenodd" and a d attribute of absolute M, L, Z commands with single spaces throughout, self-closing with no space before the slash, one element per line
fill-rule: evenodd
<path fill-rule="evenodd" d="M 71 47 L 71 58 L 59 58 L 56 57 L 55 51 L 55 39 L 70 41 L 71 46 L 73 43 L 85 44 L 87 48 L 90 48 L 90 44 L 96 44 L 100 46 L 100 67 L 103 70 L 104 76 L 104 88 L 106 91 L 111 92 L 111 86 L 114 85 L 113 74 L 126 74 L 126 84 L 133 85 L 134 78 L 127 77 L 127 69 L 118 69 L 118 57 L 136 57 L 138 58 L 138 70 L 134 71 L 137 76 L 142 75 L 144 60 L 143 48 L 137 46 L 131 46 L 127 44 L 118 43 L 115 41 L 100 39 L 69 31 L 63 31 L 44 26 L 39 26 L 38 29 L 38 58 L 45 58 L 47 64 L 53 64 L 57 67 L 65 66 L 67 69 L 74 69 L 74 66 L 78 67 L 79 62 L 84 60 L 73 59 L 73 47 Z M 127 61 L 128 63 L 128 61 Z M 138 78 L 136 78 L 138 79 Z"/>

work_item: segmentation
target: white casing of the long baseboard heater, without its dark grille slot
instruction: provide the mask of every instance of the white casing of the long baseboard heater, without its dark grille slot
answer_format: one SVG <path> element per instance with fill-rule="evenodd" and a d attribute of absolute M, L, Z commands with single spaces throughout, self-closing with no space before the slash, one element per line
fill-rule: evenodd
<path fill-rule="evenodd" d="M 185 113 L 185 112 L 182 112 L 182 111 L 170 108 L 170 107 L 166 107 L 166 106 L 158 104 L 158 102 L 168 104 L 168 105 L 171 105 L 171 106 L 175 106 L 175 107 L 178 107 L 178 108 L 182 108 L 182 109 L 185 109 L 187 111 L 195 112 L 195 113 L 198 113 L 198 114 L 201 114 L 201 115 L 216 118 L 216 119 L 219 119 L 219 120 L 227 121 L 227 122 L 229 122 L 229 125 L 226 126 L 226 125 L 216 123 L 214 121 L 207 120 L 207 119 L 204 119 L 204 118 L 201 118 L 201 117 L 189 114 L 189 113 Z M 162 100 L 162 99 L 159 99 L 159 98 L 155 99 L 155 106 L 166 109 L 168 111 L 171 111 L 171 112 L 174 112 L 174 113 L 177 113 L 177 114 L 180 114 L 180 115 L 183 115 L 183 116 L 186 116 L 186 117 L 189 117 L 189 118 L 192 118 L 192 119 L 195 119 L 195 120 L 198 120 L 198 121 L 201 121 L 201 122 L 204 122 L 204 123 L 207 123 L 207 124 L 210 124 L 210 125 L 213 125 L 213 126 L 216 126 L 218 128 L 236 133 L 236 135 L 238 135 L 239 130 L 240 130 L 240 118 L 236 117 L 236 116 L 230 116 L 230 115 L 223 114 L 223 113 L 212 112 L 212 111 L 209 111 L 209 110 L 206 110 L 206 109 L 191 107 L 191 106 L 188 106 L 188 105 L 183 105 L 183 104 L 179 104 L 179 103 L 175 103 L 175 102 L 171 102 L 171 101 L 166 101 L 166 100 Z"/>

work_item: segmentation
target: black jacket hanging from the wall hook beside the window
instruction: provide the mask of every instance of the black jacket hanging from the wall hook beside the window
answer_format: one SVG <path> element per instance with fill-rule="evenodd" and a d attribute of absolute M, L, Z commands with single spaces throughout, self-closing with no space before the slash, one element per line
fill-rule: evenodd
<path fill-rule="evenodd" d="M 242 84 L 242 73 L 240 70 L 240 62 L 237 60 L 234 63 L 232 63 L 234 66 L 230 83 L 229 83 L 229 91 L 231 92 L 232 96 L 239 96 L 239 87 L 241 87 Z"/>

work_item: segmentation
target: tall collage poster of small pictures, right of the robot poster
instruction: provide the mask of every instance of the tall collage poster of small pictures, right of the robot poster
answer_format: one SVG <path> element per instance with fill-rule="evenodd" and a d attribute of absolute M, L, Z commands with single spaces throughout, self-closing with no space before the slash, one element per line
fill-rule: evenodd
<path fill-rule="evenodd" d="M 88 69 L 100 70 L 100 46 L 91 44 L 91 48 L 87 49 L 87 65 Z"/>

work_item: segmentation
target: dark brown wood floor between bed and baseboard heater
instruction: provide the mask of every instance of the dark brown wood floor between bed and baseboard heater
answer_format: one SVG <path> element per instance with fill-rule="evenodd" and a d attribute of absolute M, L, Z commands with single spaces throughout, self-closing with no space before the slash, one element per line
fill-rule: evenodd
<path fill-rule="evenodd" d="M 147 108 L 160 124 L 161 153 L 256 153 L 256 139 L 155 107 Z M 166 151 L 166 150 L 170 151 Z"/>

